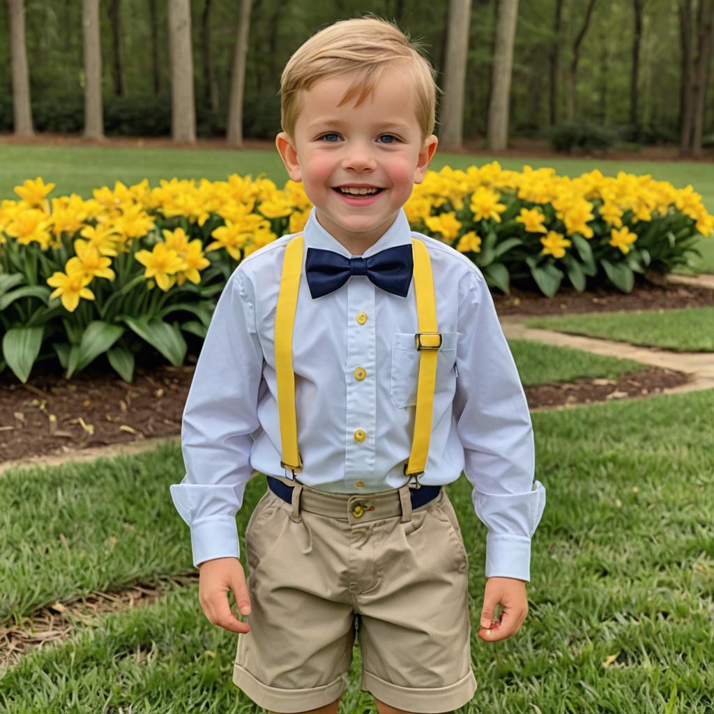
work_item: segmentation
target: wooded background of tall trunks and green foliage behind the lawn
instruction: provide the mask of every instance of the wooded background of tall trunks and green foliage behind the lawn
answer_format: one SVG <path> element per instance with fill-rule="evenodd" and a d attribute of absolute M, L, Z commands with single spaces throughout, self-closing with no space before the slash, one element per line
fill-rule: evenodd
<path fill-rule="evenodd" d="M 193 106 L 199 135 L 225 132 L 236 146 L 243 135 L 272 139 L 288 57 L 326 24 L 366 12 L 394 19 L 426 44 L 438 85 L 448 88 L 436 131 L 443 148 L 482 136 L 499 148 L 508 136 L 543 136 L 565 122 L 617 130 L 629 141 L 674 142 L 683 155 L 714 144 L 714 0 L 6 0 L 0 129 L 31 134 L 32 119 L 56 129 L 66 114 L 69 131 L 101 135 L 101 116 L 84 94 L 94 71 L 102 98 L 95 94 L 95 104 L 111 114 L 107 133 L 141 130 L 142 111 L 149 114 L 142 121 L 156 121 L 139 133 L 166 132 L 173 38 L 174 139 L 195 139 Z M 19 86 L 21 34 L 31 110 Z M 229 112 L 231 81 L 243 77 Z"/>

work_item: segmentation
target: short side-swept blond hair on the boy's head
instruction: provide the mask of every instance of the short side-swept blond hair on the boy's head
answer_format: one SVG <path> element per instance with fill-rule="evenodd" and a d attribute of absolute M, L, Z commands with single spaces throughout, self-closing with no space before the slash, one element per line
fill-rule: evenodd
<path fill-rule="evenodd" d="M 338 106 L 360 92 L 356 106 L 373 91 L 395 64 L 403 66 L 416 96 L 416 118 L 422 141 L 436 124 L 436 71 L 421 54 L 423 45 L 411 40 L 393 22 L 377 16 L 339 20 L 321 29 L 296 49 L 283 69 L 280 83 L 281 125 L 294 136 L 300 113 L 299 91 L 321 79 L 356 72 Z"/>

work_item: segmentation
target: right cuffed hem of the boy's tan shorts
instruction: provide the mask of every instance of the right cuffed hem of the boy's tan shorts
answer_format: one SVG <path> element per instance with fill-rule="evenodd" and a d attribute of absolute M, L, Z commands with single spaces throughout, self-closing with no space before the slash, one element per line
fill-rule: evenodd
<path fill-rule="evenodd" d="M 458 682 L 448 687 L 415 689 L 400 687 L 379 678 L 371 672 L 362 672 L 361 688 L 373 697 L 395 709 L 405 709 L 416 713 L 445 712 L 468 704 L 476 692 L 476 677 L 473 670 Z"/>

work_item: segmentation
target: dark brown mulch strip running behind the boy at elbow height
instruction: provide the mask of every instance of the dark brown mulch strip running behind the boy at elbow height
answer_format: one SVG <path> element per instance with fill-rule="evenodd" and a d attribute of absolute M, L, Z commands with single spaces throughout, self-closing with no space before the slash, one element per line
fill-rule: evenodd
<path fill-rule="evenodd" d="M 0 375 L 0 462 L 93 446 L 177 436 L 193 366 L 137 368 L 134 383 L 91 368 L 71 380 L 37 373 L 21 384 Z M 526 388 L 532 408 L 645 396 L 688 381 L 648 367 L 620 379 L 580 379 Z"/>

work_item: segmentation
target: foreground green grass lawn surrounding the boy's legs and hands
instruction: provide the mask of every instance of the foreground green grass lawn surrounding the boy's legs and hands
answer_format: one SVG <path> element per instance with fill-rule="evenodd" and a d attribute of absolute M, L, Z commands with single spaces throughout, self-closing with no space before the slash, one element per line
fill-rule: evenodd
<path fill-rule="evenodd" d="M 447 488 L 469 554 L 478 680 L 459 714 L 710 712 L 714 390 L 542 411 L 533 426 L 548 503 L 533 538 L 528 618 L 513 638 L 476 636 L 486 529 L 466 478 Z M 181 476 L 177 444 L 6 473 L 0 623 L 30 601 L 190 569 L 188 528 L 168 488 Z M 263 478 L 248 483 L 241 542 L 264 490 Z M 208 623 L 196 585 L 171 590 L 25 655 L 1 682 L 0 711 L 258 714 L 231 681 L 236 638 Z M 373 711 L 357 647 L 354 658 L 342 714 Z"/>

